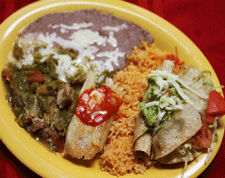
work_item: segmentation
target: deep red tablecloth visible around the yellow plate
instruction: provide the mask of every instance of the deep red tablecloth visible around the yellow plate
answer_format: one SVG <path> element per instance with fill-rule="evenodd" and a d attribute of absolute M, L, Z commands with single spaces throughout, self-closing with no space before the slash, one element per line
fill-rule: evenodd
<path fill-rule="evenodd" d="M 0 0 L 0 23 L 36 0 Z M 10 2 L 10 3 L 9 3 Z M 221 0 L 127 0 L 161 16 L 185 33 L 203 52 L 225 85 L 225 13 Z M 223 88 L 225 93 L 225 89 Z M 225 140 L 209 167 L 198 178 L 225 177 Z M 38 177 L 0 141 L 0 177 Z"/>

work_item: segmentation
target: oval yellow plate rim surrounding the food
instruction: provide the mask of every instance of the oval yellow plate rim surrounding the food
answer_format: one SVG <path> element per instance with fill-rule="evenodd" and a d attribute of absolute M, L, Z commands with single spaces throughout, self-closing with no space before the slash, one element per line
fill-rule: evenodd
<path fill-rule="evenodd" d="M 40 16 L 57 11 L 75 11 L 79 9 L 96 8 L 112 12 L 129 21 L 133 21 L 144 29 L 147 29 L 154 37 L 155 43 L 163 50 L 174 52 L 175 47 L 178 49 L 180 58 L 186 65 L 194 65 L 200 70 L 210 70 L 212 80 L 216 86 L 219 81 L 213 68 L 202 54 L 202 52 L 178 29 L 157 15 L 118 0 L 54 0 L 39 1 L 14 13 L 1 24 L 0 29 L 0 71 L 3 70 L 11 46 L 24 26 L 34 21 Z M 15 122 L 12 111 L 5 100 L 5 90 L 2 80 L 0 84 L 0 138 L 9 150 L 26 166 L 42 177 L 77 177 L 77 178 L 105 178 L 115 177 L 107 172 L 100 170 L 98 161 L 90 167 L 74 164 L 73 162 L 62 158 L 60 154 L 50 152 L 45 146 L 33 139 L 25 130 L 20 128 Z M 218 90 L 222 92 L 221 90 Z M 219 122 L 219 140 L 213 150 L 209 161 L 204 164 L 206 154 L 201 155 L 197 160 L 189 164 L 185 177 L 197 177 L 203 172 L 215 157 L 219 150 L 224 133 L 224 118 Z M 176 168 L 150 168 L 144 175 L 128 174 L 124 177 L 180 177 L 183 169 Z"/>

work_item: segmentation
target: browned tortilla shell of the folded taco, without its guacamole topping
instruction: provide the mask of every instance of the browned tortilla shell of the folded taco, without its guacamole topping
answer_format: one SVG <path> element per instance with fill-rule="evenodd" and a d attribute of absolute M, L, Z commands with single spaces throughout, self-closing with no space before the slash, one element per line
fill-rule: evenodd
<path fill-rule="evenodd" d="M 189 66 L 181 69 L 179 77 L 195 91 L 209 95 L 211 85 L 204 83 L 204 78 L 198 77 L 200 74 L 197 68 Z M 193 137 L 202 127 L 201 117 L 203 119 L 205 117 L 208 99 L 202 99 L 186 89 L 185 93 L 194 104 L 185 104 L 183 111 L 177 112 L 174 119 L 166 121 L 164 127 L 153 137 L 152 157 L 154 159 L 160 159 L 171 153 L 166 158 L 160 159 L 163 163 L 182 162 L 182 156 L 175 154 L 178 152 L 174 150 Z M 194 155 L 193 158 L 196 157 L 196 154 Z"/>

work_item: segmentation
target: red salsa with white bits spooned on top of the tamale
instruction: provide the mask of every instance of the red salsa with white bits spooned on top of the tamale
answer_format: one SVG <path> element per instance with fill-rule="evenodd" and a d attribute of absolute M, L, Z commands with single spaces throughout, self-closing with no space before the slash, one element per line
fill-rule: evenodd
<path fill-rule="evenodd" d="M 76 116 L 86 125 L 97 126 L 117 112 L 121 99 L 108 86 L 85 90 L 78 98 Z"/>

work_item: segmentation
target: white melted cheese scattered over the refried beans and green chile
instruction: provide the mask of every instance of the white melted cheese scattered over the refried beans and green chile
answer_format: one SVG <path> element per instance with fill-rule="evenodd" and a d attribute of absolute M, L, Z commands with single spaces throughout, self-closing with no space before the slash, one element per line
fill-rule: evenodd
<path fill-rule="evenodd" d="M 114 27 L 102 27 L 102 30 L 109 32 L 108 37 L 101 36 L 98 31 L 89 29 L 91 26 L 93 26 L 92 23 L 73 23 L 71 26 L 65 24 L 50 24 L 50 28 L 59 29 L 62 33 L 67 33 L 70 30 L 72 30 L 73 33 L 71 33 L 67 39 L 61 38 L 56 33 L 47 33 L 45 35 L 40 33 L 37 39 L 34 39 L 39 41 L 40 44 L 46 44 L 44 48 L 40 48 L 38 51 L 43 56 L 40 60 L 41 62 L 45 62 L 50 54 L 53 54 L 53 58 L 58 61 L 56 72 L 59 74 L 59 80 L 67 82 L 67 76 L 73 76 L 78 70 L 77 66 L 83 66 L 85 72 L 93 69 L 96 74 L 101 74 L 106 69 L 111 72 L 114 70 L 114 66 L 119 66 L 119 58 L 125 56 L 125 53 L 120 52 L 117 47 L 117 39 L 114 37 L 114 33 L 128 28 L 126 24 Z M 24 59 L 14 61 L 18 68 L 22 68 L 23 65 L 32 65 L 34 61 L 32 53 L 35 47 L 32 41 L 34 40 L 33 38 L 29 40 L 30 49 L 24 54 Z M 25 42 L 27 43 L 28 41 Z M 72 60 L 69 55 L 57 54 L 54 47 L 55 44 L 58 44 L 64 49 L 73 48 L 77 50 L 77 59 Z M 94 44 L 97 44 L 97 46 L 94 46 Z M 111 45 L 113 50 L 100 52 L 100 49 L 102 50 L 107 44 Z M 13 58 L 12 55 L 11 58 Z M 101 60 L 95 60 L 95 58 Z"/>

